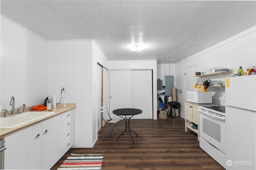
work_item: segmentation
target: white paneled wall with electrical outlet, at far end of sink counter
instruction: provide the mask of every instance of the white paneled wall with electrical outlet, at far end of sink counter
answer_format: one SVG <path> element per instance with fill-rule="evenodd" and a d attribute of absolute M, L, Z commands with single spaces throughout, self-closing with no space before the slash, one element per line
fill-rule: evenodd
<path fill-rule="evenodd" d="M 97 61 L 108 66 L 92 40 L 47 42 L 47 95 L 56 94 L 57 103 L 76 103 L 73 147 L 93 147 L 98 139 Z M 61 86 L 67 91 L 60 101 Z"/>

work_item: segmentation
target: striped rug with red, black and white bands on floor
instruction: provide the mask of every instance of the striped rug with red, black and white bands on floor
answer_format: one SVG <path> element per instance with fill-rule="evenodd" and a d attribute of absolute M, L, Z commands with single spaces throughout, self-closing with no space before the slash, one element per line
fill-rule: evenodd
<path fill-rule="evenodd" d="M 58 170 L 100 170 L 103 154 L 71 154 Z"/>

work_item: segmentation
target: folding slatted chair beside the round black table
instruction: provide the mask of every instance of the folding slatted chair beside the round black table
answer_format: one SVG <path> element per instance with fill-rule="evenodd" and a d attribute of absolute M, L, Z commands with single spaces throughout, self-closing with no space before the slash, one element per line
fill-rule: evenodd
<path fill-rule="evenodd" d="M 121 118 L 112 119 L 112 118 L 110 117 L 110 114 L 109 114 L 108 109 L 107 109 L 106 106 L 100 107 L 100 112 L 102 113 L 102 119 L 103 119 L 103 121 L 105 122 L 106 127 L 108 128 L 108 132 L 106 133 L 106 135 L 108 135 L 109 133 L 111 133 L 111 135 L 113 136 L 114 140 L 116 141 L 116 137 L 117 137 L 118 135 L 121 135 L 121 132 L 119 131 L 119 129 L 118 129 L 118 127 L 117 127 L 116 125 L 117 125 L 118 122 L 119 122 L 120 120 L 122 120 L 122 119 L 121 119 Z M 105 120 L 106 118 L 104 119 L 104 113 L 106 113 L 106 112 L 108 113 L 108 117 L 109 117 L 108 120 Z M 116 129 L 118 130 L 118 132 L 119 132 L 116 136 L 114 136 L 114 134 L 112 133 L 112 131 L 113 131 L 115 128 L 116 128 Z M 105 138 L 106 135 L 105 135 L 103 138 Z"/>

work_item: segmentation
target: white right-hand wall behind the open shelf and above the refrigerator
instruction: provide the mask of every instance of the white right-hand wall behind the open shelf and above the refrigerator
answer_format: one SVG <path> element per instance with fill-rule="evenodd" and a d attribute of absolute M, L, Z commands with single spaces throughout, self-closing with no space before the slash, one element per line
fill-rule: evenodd
<path fill-rule="evenodd" d="M 192 55 L 176 63 L 176 86 L 182 89 L 182 93 L 178 93 L 178 102 L 186 101 L 185 93 L 185 68 L 193 64 L 198 65 L 198 71 L 218 66 L 219 68 L 229 68 L 232 73 L 224 76 L 233 76 L 237 73 L 239 66 L 246 71 L 250 66 L 256 65 L 256 27 L 252 27 L 243 31 L 225 41 L 218 43 L 200 53 Z M 214 76 L 211 78 L 220 78 Z M 196 83 L 196 79 L 194 81 Z M 242 87 L 241 87 L 242 88 Z M 255 87 L 254 87 L 255 88 Z M 222 90 L 225 90 L 222 87 Z M 225 105 L 225 92 L 218 87 L 210 87 L 209 91 L 213 93 L 213 103 Z M 184 118 L 184 107 L 181 107 L 181 117 Z"/>

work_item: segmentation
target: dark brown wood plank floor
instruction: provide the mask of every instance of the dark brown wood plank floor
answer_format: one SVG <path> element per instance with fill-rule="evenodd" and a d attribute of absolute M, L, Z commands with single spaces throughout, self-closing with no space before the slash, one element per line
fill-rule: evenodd
<path fill-rule="evenodd" d="M 181 117 L 168 119 L 132 119 L 130 127 L 138 134 L 124 133 L 118 141 L 109 134 L 102 138 L 107 128 L 98 134 L 93 148 L 70 149 L 52 169 L 71 154 L 104 154 L 102 170 L 223 170 L 214 159 L 199 147 L 197 134 L 185 132 L 185 120 Z M 124 130 L 124 121 L 118 124 Z M 116 131 L 115 131 L 116 132 Z"/>

